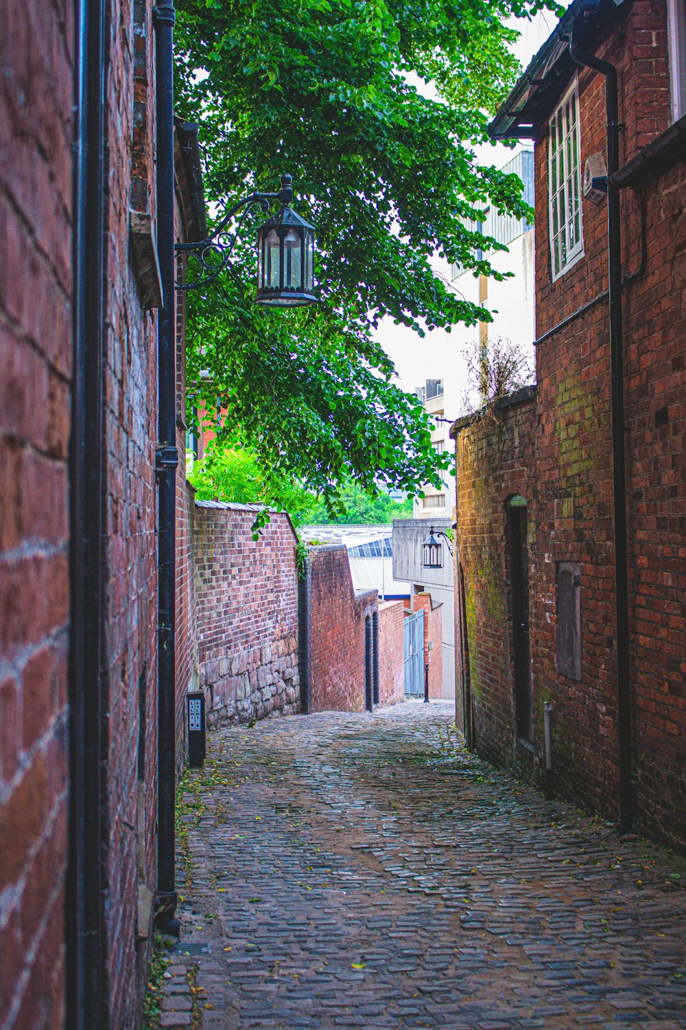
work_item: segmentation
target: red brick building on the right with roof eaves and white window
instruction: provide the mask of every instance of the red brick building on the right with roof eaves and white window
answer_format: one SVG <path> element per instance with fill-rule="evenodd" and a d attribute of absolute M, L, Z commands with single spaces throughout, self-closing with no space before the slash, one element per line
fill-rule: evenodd
<path fill-rule="evenodd" d="M 537 392 L 452 431 L 458 717 L 478 750 L 681 848 L 685 40 L 681 0 L 574 0 L 494 119 L 535 141 Z"/>

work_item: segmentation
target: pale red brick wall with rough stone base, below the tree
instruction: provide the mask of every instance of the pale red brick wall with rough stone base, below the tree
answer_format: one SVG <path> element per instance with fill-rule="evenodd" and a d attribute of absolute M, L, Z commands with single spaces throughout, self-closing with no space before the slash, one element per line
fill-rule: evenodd
<path fill-rule="evenodd" d="M 200 684 L 210 725 L 299 707 L 296 537 L 288 516 L 274 513 L 253 540 L 257 510 L 194 506 Z"/>

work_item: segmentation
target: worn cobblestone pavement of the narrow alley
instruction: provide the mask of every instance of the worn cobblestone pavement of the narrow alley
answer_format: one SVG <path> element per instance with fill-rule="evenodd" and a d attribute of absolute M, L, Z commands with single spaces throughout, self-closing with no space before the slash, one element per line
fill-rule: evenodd
<path fill-rule="evenodd" d="M 409 702 L 212 736 L 184 781 L 164 1026 L 686 1026 L 683 860 L 452 722 Z"/>

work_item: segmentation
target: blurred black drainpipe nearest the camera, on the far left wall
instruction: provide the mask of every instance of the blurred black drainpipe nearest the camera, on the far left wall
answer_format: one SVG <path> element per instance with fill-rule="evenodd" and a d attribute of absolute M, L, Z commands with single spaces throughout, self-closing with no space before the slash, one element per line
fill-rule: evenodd
<path fill-rule="evenodd" d="M 98 1030 L 108 1005 L 101 798 L 108 25 L 104 0 L 78 0 L 75 13 L 66 1020 L 73 1030 Z"/>

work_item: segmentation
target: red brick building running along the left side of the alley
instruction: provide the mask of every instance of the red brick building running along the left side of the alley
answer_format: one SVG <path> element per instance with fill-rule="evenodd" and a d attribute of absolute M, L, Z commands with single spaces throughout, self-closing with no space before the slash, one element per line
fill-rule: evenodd
<path fill-rule="evenodd" d="M 148 0 L 27 0 L 0 10 L 7 1030 L 136 1027 L 147 978 L 157 882 L 163 301 L 155 35 Z M 196 130 L 177 126 L 176 142 L 168 235 L 194 239 L 206 232 Z M 182 354 L 181 304 L 177 314 Z M 183 466 L 179 478 L 185 484 Z M 191 588 L 180 576 L 181 741 Z"/>

